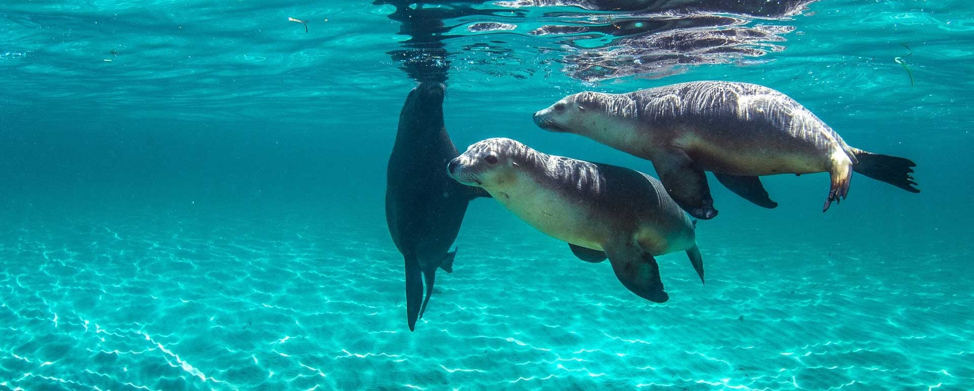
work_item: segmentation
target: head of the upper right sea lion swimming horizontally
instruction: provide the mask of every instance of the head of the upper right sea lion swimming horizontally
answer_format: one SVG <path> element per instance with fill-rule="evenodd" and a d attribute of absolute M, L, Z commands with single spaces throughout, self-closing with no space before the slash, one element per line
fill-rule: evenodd
<path fill-rule="evenodd" d="M 535 113 L 535 124 L 554 131 L 594 135 L 636 117 L 636 105 L 628 96 L 602 92 L 568 95 Z"/>

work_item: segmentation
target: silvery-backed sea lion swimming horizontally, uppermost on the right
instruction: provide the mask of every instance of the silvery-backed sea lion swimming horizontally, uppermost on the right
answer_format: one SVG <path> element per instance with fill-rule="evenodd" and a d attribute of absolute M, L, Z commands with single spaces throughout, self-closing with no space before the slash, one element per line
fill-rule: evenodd
<path fill-rule="evenodd" d="M 852 171 L 919 193 L 912 160 L 849 147 L 794 99 L 758 85 L 692 82 L 622 94 L 580 92 L 534 119 L 544 129 L 653 160 L 670 196 L 700 219 L 717 216 L 704 171 L 767 208 L 777 203 L 761 175 L 828 172 L 832 187 L 823 212 L 848 194 Z"/>

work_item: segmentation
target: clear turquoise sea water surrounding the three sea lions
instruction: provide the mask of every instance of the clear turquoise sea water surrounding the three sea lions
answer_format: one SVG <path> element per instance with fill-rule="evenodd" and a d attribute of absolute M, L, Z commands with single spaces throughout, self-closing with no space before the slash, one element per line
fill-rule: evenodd
<path fill-rule="evenodd" d="M 435 69 L 461 150 L 511 137 L 652 174 L 531 114 L 585 89 L 730 80 L 791 95 L 851 145 L 915 160 L 922 193 L 857 176 L 822 214 L 825 174 L 765 179 L 773 210 L 712 186 L 721 215 L 697 228 L 707 284 L 682 254 L 659 257 L 663 304 L 477 199 L 455 270 L 438 274 L 410 333 L 384 196 L 416 86 L 395 52 L 415 41 L 393 5 L 6 1 L 0 387 L 974 384 L 974 6 L 822 0 L 787 16 L 636 18 L 457 3 L 483 12 L 448 16 L 427 44 L 446 53 Z M 486 22 L 505 26 L 476 27 Z M 759 38 L 704 39 L 734 28 Z M 696 45 L 666 51 L 665 37 Z M 653 53 L 600 54 L 637 45 Z"/>

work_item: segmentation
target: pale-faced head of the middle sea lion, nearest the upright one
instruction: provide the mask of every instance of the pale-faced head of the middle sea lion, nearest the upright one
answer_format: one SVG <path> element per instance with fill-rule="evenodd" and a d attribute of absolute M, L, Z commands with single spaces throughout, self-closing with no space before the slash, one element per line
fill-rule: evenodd
<path fill-rule="evenodd" d="M 485 190 L 500 189 L 516 179 L 534 150 L 509 138 L 488 138 L 467 148 L 463 155 L 450 160 L 446 170 L 450 177 L 468 186 Z"/>

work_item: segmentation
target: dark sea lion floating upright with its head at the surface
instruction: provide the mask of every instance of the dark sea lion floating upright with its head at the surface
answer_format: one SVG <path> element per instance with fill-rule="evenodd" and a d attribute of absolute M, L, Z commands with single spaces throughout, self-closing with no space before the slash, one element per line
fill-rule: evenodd
<path fill-rule="evenodd" d="M 443 125 L 443 89 L 440 84 L 422 83 L 409 92 L 387 170 L 386 222 L 405 260 L 410 331 L 430 302 L 436 267 L 453 271 L 457 252 L 449 250 L 468 202 L 489 196 L 443 172 L 443 165 L 459 155 Z M 420 274 L 426 277 L 426 299 Z"/>

